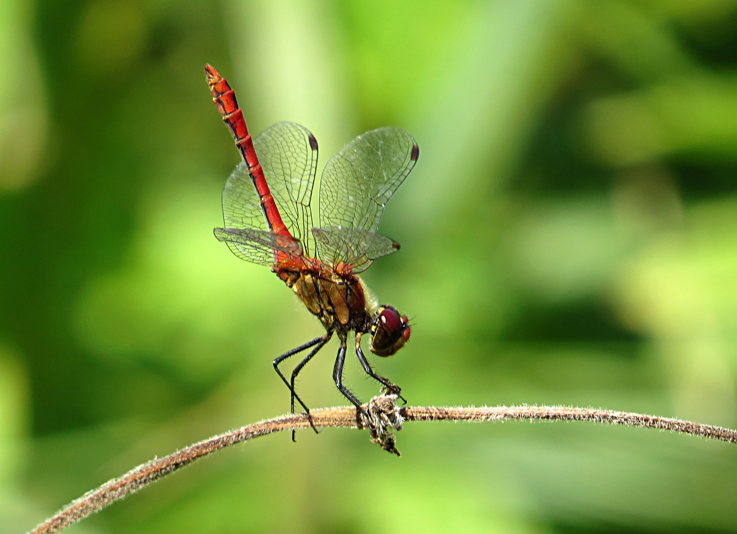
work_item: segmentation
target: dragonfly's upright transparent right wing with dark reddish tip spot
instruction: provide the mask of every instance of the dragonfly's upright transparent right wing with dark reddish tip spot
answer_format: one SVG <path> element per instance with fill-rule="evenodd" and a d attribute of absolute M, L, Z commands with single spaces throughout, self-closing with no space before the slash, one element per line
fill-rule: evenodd
<path fill-rule="evenodd" d="M 320 226 L 377 231 L 384 206 L 418 156 L 414 138 L 402 128 L 378 128 L 354 138 L 325 166 Z"/>

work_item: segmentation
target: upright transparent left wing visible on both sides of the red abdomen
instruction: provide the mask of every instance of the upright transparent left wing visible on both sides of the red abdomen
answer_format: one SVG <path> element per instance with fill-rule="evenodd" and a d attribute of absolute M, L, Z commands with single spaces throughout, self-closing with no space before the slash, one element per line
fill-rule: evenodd
<path fill-rule="evenodd" d="M 306 252 L 312 252 L 310 201 L 318 159 L 315 136 L 299 124 L 279 122 L 254 139 L 254 148 L 284 224 L 307 247 Z M 269 230 L 245 163 L 238 164 L 223 188 L 223 221 L 226 228 Z"/>

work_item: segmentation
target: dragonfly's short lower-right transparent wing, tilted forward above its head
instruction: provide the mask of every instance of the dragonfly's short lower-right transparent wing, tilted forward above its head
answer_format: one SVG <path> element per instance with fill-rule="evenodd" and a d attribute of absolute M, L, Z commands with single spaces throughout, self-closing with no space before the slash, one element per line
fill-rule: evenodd
<path fill-rule="evenodd" d="M 312 228 L 312 235 L 320 245 L 322 261 L 334 268 L 341 262 L 352 265 L 353 273 L 362 273 L 371 267 L 374 259 L 399 250 L 399 243 L 363 228 Z"/>

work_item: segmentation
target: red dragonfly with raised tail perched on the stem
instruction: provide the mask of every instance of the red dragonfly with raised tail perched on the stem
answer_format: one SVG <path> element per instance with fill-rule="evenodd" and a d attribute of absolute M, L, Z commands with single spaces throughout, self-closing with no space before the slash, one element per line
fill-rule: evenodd
<path fill-rule="evenodd" d="M 358 274 L 375 259 L 399 250 L 399 243 L 377 229 L 386 203 L 415 166 L 419 147 L 399 127 L 357 136 L 326 163 L 318 203 L 312 205 L 315 136 L 294 122 L 279 122 L 252 139 L 228 82 L 209 64 L 205 72 L 212 101 L 243 159 L 223 188 L 224 225 L 215 228 L 214 235 L 240 259 L 271 267 L 325 329 L 325 334 L 273 360 L 290 390 L 291 412 L 297 401 L 318 432 L 310 409 L 296 393 L 295 380 L 335 335 L 340 340 L 332 373 L 335 386 L 370 421 L 343 383 L 349 334 L 354 332 L 355 353 L 366 374 L 405 401 L 397 384 L 371 368 L 361 338 L 369 334 L 369 348 L 377 356 L 392 356 L 408 342 L 411 329 L 406 315 L 377 303 Z M 318 222 L 315 227 L 313 220 Z M 308 350 L 287 379 L 279 365 Z"/>

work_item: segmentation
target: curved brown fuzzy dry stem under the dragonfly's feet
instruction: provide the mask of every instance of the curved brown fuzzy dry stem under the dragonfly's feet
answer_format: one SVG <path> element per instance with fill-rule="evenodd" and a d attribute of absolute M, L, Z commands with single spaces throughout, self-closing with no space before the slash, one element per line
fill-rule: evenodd
<path fill-rule="evenodd" d="M 375 401 L 375 397 L 372 401 Z M 366 405 L 368 408 L 368 405 Z M 391 404 L 393 407 L 393 403 Z M 312 410 L 312 421 L 315 426 L 344 426 L 349 428 L 364 428 L 358 418 L 357 410 L 353 407 L 324 408 Z M 710 426 L 656 417 L 629 412 L 612 412 L 610 410 L 592 410 L 587 408 L 570 408 L 559 406 L 521 406 L 521 407 L 481 407 L 481 408 L 450 408 L 450 407 L 402 407 L 399 415 L 404 421 L 502 421 L 506 419 L 551 419 L 560 421 L 590 421 L 594 423 L 624 424 L 628 426 L 645 426 L 648 428 L 671 430 L 710 438 L 720 441 L 737 443 L 737 431 Z M 129 493 L 138 491 L 145 485 L 186 466 L 189 463 L 207 456 L 219 449 L 241 443 L 242 441 L 258 438 L 273 432 L 284 430 L 303 429 L 310 426 L 307 417 L 303 414 L 282 415 L 260 423 L 242 426 L 224 434 L 200 441 L 181 451 L 170 454 L 138 466 L 122 477 L 112 479 L 99 488 L 89 491 L 79 499 L 63 507 L 55 516 L 43 521 L 28 534 L 51 534 L 58 532 L 69 525 L 80 521 L 91 513 L 102 510 L 105 506 L 124 498 Z M 392 450 L 394 441 L 391 440 Z M 387 449 L 390 450 L 390 449 Z"/>

